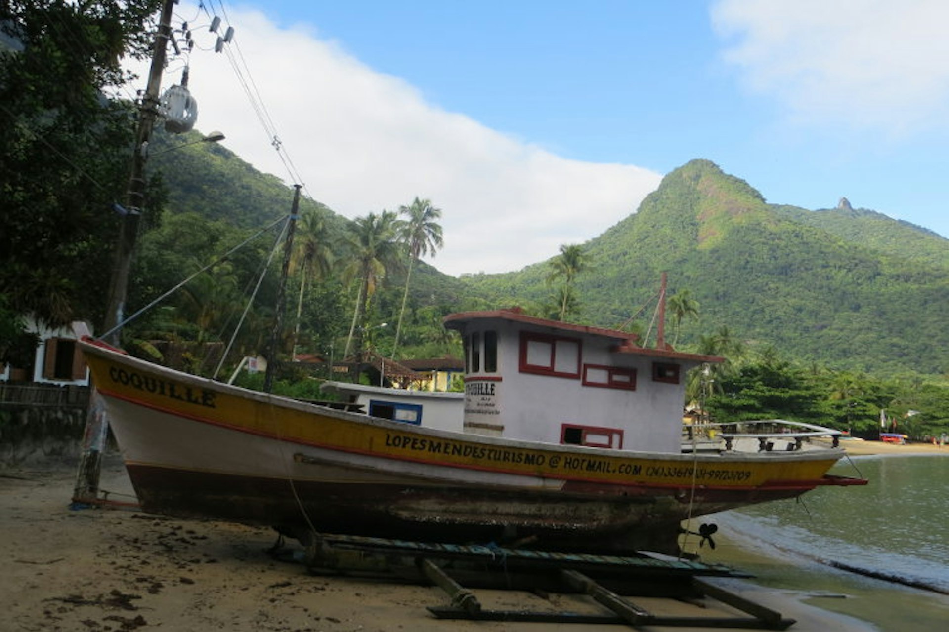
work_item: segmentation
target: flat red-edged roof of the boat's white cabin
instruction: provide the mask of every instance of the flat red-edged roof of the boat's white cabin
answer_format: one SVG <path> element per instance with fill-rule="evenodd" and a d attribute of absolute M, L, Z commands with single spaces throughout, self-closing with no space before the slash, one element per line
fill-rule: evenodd
<path fill-rule="evenodd" d="M 603 327 L 592 327 L 590 325 L 576 325 L 574 323 L 562 322 L 560 320 L 550 320 L 549 318 L 539 318 L 537 316 L 528 316 L 524 314 L 519 307 L 512 309 L 490 310 L 485 312 L 460 312 L 458 314 L 449 314 L 445 316 L 443 322 L 448 329 L 454 329 L 461 332 L 465 323 L 472 320 L 509 320 L 526 325 L 537 327 L 547 327 L 555 331 L 568 332 L 571 334 L 589 334 L 605 338 L 612 338 L 616 341 L 615 352 L 630 353 L 635 355 L 646 355 L 651 357 L 667 357 L 675 360 L 685 360 L 692 362 L 724 362 L 725 358 L 717 355 L 702 355 L 699 353 L 677 352 L 672 345 L 665 344 L 662 349 L 651 349 L 641 347 L 636 343 L 639 337 L 629 332 L 621 332 L 616 329 L 605 329 Z"/>

